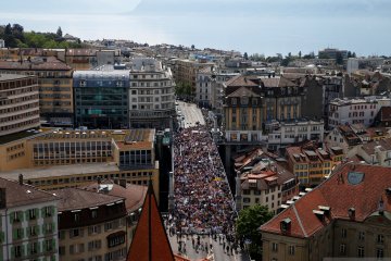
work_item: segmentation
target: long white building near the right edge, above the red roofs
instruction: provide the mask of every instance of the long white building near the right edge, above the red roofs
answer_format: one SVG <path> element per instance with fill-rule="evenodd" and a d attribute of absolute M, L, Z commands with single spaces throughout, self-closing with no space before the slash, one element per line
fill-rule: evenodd
<path fill-rule="evenodd" d="M 335 99 L 329 103 L 329 128 L 338 125 L 362 123 L 370 126 L 381 107 L 391 105 L 391 99 L 386 97 L 365 97 Z"/>

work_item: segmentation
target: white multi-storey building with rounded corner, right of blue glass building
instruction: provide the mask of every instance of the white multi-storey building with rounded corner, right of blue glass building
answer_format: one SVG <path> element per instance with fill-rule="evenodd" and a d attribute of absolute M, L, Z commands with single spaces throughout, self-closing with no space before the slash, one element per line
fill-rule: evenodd
<path fill-rule="evenodd" d="M 175 115 L 175 83 L 169 67 L 153 58 L 134 58 L 130 69 L 131 127 L 169 127 Z"/>

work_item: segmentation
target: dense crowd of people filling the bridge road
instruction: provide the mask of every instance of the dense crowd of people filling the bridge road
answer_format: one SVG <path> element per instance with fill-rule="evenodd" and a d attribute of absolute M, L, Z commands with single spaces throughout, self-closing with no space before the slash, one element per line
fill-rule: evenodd
<path fill-rule="evenodd" d="M 236 211 L 217 147 L 205 126 L 182 129 L 174 138 L 175 229 L 224 234 L 234 238 Z"/>

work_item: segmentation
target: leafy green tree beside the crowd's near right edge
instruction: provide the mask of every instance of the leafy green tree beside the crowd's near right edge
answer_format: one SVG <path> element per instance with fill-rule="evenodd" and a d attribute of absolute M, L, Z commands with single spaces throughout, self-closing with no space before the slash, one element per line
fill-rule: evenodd
<path fill-rule="evenodd" d="M 262 240 L 258 228 L 273 217 L 266 206 L 255 204 L 239 212 L 236 222 L 237 237 L 250 243 L 249 251 L 252 259 L 261 260 Z"/>

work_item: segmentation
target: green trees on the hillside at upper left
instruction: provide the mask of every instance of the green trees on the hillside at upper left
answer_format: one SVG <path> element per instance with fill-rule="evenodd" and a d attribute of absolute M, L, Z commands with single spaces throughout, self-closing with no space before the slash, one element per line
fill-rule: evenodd
<path fill-rule="evenodd" d="M 10 48 L 80 48 L 80 42 L 67 42 L 59 27 L 56 33 L 24 32 L 20 24 L 8 24 L 0 27 L 0 38 Z"/>

